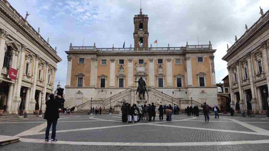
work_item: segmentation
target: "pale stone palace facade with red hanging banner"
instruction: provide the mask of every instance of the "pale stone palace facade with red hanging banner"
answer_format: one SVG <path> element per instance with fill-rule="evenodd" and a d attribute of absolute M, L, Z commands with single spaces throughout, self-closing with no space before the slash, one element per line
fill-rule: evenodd
<path fill-rule="evenodd" d="M 44 112 L 61 61 L 26 19 L 9 2 L 0 1 L 0 101 L 6 105 L 6 113 L 18 114 L 22 102 L 25 112 L 38 112 L 41 98 Z"/>

